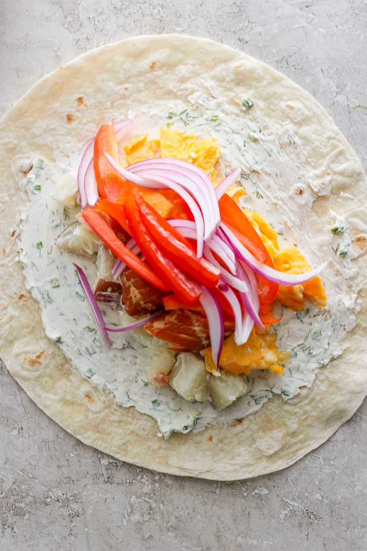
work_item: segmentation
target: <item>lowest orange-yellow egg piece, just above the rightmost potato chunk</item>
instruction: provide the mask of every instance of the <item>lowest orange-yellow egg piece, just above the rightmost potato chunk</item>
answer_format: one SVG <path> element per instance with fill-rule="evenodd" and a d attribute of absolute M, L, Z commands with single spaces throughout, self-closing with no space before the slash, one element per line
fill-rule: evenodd
<path fill-rule="evenodd" d="M 215 371 L 215 365 L 211 356 L 211 348 L 204 350 L 205 365 L 209 372 Z M 232 373 L 250 373 L 251 369 L 269 369 L 274 373 L 283 373 L 281 365 L 278 365 L 278 352 L 273 334 L 256 334 L 255 329 L 250 333 L 245 344 L 238 346 L 234 342 L 234 336 L 228 337 L 223 343 L 221 368 Z"/>

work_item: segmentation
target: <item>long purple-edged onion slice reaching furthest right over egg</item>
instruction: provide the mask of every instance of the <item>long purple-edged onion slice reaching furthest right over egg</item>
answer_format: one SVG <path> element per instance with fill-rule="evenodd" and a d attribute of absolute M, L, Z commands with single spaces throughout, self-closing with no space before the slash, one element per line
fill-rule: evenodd
<path fill-rule="evenodd" d="M 260 264 L 260 262 L 257 261 L 253 255 L 251 255 L 250 251 L 248 251 L 242 245 L 242 243 L 237 239 L 232 231 L 227 228 L 225 224 L 221 223 L 220 228 L 223 231 L 224 235 L 227 237 L 229 245 L 231 245 L 237 258 L 243 260 L 243 262 L 245 262 L 247 266 L 253 269 L 255 273 L 259 274 L 259 276 L 262 276 L 273 283 L 277 283 L 278 285 L 284 285 L 285 287 L 300 285 L 306 281 L 309 281 L 309 279 L 317 276 L 326 266 L 326 262 L 324 262 L 318 268 L 315 268 L 310 272 L 305 272 L 303 274 L 288 274 L 284 272 L 279 272 L 278 270 L 271 268 L 270 266 Z"/>

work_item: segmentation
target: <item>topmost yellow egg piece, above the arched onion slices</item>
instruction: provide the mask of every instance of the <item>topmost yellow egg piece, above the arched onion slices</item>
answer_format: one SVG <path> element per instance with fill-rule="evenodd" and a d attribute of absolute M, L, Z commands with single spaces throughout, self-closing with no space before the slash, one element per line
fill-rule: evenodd
<path fill-rule="evenodd" d="M 217 183 L 215 164 L 221 155 L 216 139 L 201 139 L 195 134 L 183 134 L 171 128 L 161 128 L 161 157 L 174 157 L 187 161 L 207 174 L 213 183 Z"/>

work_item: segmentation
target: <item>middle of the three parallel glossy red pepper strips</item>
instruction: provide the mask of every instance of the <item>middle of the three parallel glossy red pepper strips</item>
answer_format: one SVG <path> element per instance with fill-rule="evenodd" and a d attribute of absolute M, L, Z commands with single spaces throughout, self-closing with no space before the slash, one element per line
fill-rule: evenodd
<path fill-rule="evenodd" d="M 140 218 L 134 195 L 125 201 L 124 212 L 130 233 L 157 275 L 185 304 L 188 306 L 195 304 L 201 294 L 199 285 L 185 276 L 176 264 L 168 260 L 158 249 Z"/>

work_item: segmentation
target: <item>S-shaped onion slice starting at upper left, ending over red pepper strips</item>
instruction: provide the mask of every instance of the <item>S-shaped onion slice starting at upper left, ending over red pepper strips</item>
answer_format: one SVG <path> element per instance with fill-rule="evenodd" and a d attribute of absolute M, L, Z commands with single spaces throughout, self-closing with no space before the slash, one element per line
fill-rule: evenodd
<path fill-rule="evenodd" d="M 142 178 L 141 176 L 132 174 L 132 172 L 129 172 L 128 170 L 122 168 L 122 166 L 117 163 L 117 161 L 115 161 L 111 157 L 111 155 L 106 152 L 105 155 L 111 166 L 113 166 L 118 174 L 123 176 L 125 180 L 135 183 L 135 185 L 137 186 L 149 187 L 156 190 L 161 190 L 162 188 L 168 187 L 171 190 L 176 191 L 176 193 L 178 193 L 178 195 L 182 197 L 182 199 L 188 204 L 188 207 L 191 210 L 191 213 L 193 213 L 193 217 L 195 219 L 196 231 L 198 232 L 196 255 L 200 258 L 202 256 L 202 250 L 204 247 L 204 220 L 195 199 L 191 197 L 190 193 L 183 190 L 183 188 L 178 183 L 173 182 L 169 179 L 160 178 L 159 181 L 157 181 L 156 176 L 149 175 L 149 179 L 147 180 L 145 178 Z"/>

